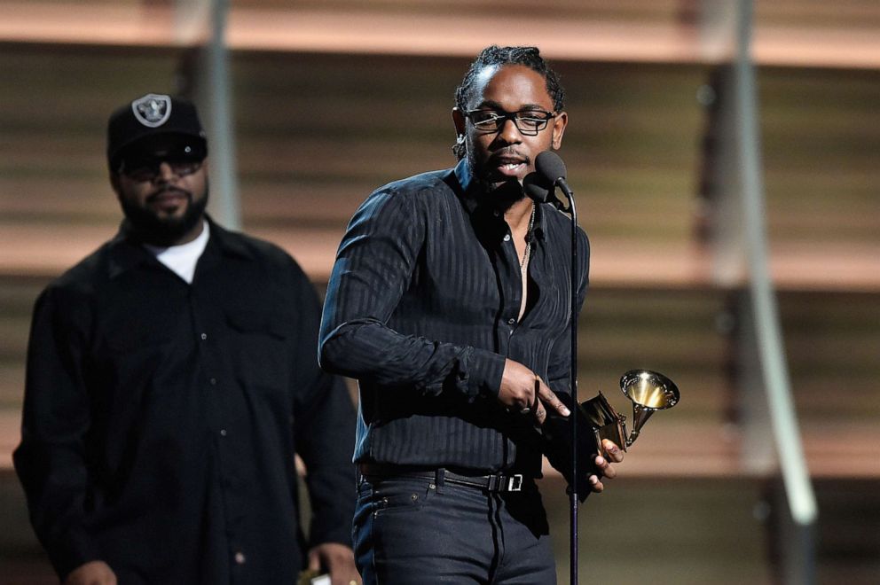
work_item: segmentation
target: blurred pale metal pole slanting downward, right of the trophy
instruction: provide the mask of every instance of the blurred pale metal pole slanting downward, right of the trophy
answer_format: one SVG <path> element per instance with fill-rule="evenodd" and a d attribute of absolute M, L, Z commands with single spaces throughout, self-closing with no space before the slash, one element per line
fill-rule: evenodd
<path fill-rule="evenodd" d="M 818 517 L 813 486 L 806 468 L 798 420 L 791 397 L 790 376 L 769 269 L 764 180 L 758 126 L 758 90 L 750 53 L 752 3 L 706 0 L 707 39 L 715 56 L 725 57 L 728 37 L 733 51 L 729 66 L 719 69 L 718 156 L 712 184 L 719 196 L 714 228 L 716 257 L 713 276 L 720 285 L 746 290 L 738 296 L 737 361 L 741 388 L 743 467 L 755 474 L 782 472 L 781 497 L 773 536 L 782 554 L 786 583 L 816 581 L 815 524 Z M 708 47 L 712 48 L 712 47 Z"/>

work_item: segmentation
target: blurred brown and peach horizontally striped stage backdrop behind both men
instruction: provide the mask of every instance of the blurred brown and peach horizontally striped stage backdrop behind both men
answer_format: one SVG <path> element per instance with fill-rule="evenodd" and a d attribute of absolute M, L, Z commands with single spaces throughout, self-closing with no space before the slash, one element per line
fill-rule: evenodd
<path fill-rule="evenodd" d="M 448 166 L 450 88 L 491 43 L 540 46 L 577 96 L 582 394 L 615 402 L 633 367 L 682 392 L 587 504 L 606 531 L 581 544 L 584 564 L 606 561 L 591 577 L 770 583 L 807 554 L 816 581 L 880 581 L 878 27 L 871 0 L 4 2 L 0 555 L 28 575 L 12 582 L 52 582 L 11 453 L 33 299 L 118 223 L 106 113 L 154 88 L 193 98 L 212 139 L 208 209 L 323 289 L 365 193 Z M 686 442 L 699 449 L 669 447 Z M 544 481 L 564 582 L 567 498 Z"/>

